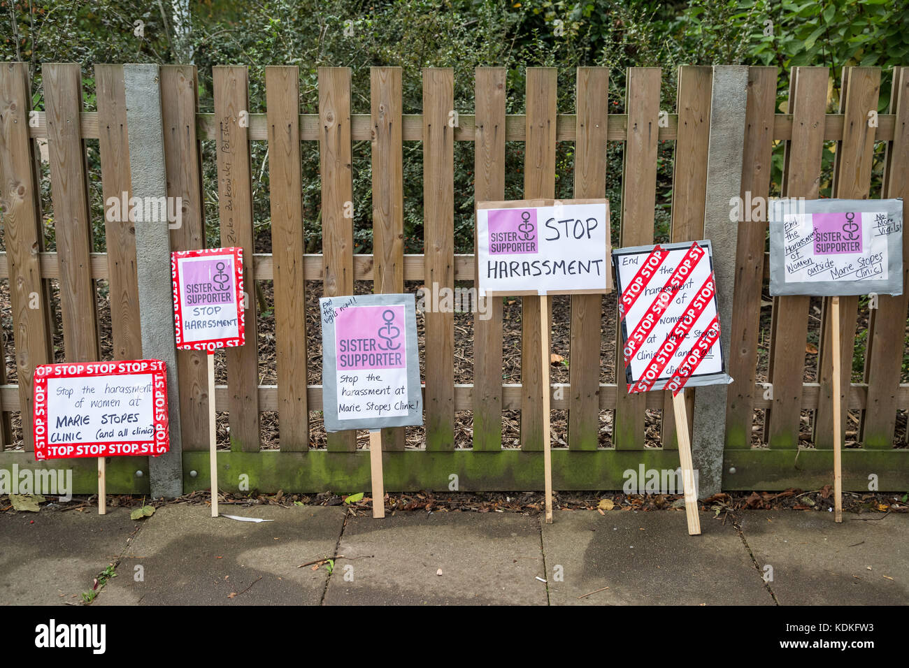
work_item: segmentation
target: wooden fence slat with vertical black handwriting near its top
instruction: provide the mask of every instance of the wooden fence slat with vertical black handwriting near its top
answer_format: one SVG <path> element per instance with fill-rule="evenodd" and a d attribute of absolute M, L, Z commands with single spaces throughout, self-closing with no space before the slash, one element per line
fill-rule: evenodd
<path fill-rule="evenodd" d="M 232 450 L 259 449 L 259 354 L 253 254 L 253 184 L 249 157 L 249 75 L 245 67 L 215 66 L 218 170 L 218 217 L 221 244 L 243 248 L 245 288 L 245 345 L 228 348 L 227 393 L 230 397 L 230 443 Z"/>

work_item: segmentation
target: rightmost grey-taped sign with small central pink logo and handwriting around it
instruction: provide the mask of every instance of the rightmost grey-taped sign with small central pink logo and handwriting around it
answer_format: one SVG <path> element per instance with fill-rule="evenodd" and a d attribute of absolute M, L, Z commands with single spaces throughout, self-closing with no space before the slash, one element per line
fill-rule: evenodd
<path fill-rule="evenodd" d="M 770 294 L 903 294 L 903 200 L 770 206 Z"/>

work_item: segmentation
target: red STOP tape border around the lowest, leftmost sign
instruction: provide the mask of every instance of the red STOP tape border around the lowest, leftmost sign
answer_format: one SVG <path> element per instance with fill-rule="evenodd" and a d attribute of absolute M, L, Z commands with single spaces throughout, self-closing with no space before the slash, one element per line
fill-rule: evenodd
<path fill-rule="evenodd" d="M 68 459 L 76 457 L 153 457 L 170 450 L 167 417 L 167 367 L 161 360 L 120 360 L 117 362 L 74 362 L 72 364 L 40 364 L 35 367 L 35 410 L 32 432 L 35 435 L 35 460 Z M 96 378 L 99 376 L 152 374 L 152 409 L 155 435 L 145 441 L 55 443 L 47 442 L 47 381 L 52 378 Z M 50 448 L 71 446 L 73 454 L 50 454 Z"/>

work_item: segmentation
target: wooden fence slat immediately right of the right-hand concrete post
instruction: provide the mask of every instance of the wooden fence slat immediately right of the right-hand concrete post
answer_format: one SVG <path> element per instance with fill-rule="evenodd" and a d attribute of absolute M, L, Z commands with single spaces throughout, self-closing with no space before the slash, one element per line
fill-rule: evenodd
<path fill-rule="evenodd" d="M 773 158 L 776 68 L 748 68 L 748 102 L 745 108 L 742 201 L 764 201 L 770 194 Z M 730 323 L 729 385 L 726 402 L 726 447 L 751 446 L 754 423 L 754 377 L 757 366 L 761 291 L 764 280 L 764 215 L 743 211 L 735 249 L 733 322 Z"/>

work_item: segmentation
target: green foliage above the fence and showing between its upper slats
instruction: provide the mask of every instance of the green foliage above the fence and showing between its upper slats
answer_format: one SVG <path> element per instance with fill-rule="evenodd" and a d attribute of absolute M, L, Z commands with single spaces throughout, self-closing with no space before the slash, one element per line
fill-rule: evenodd
<path fill-rule="evenodd" d="M 188 31 L 180 15 L 188 12 Z M 405 114 L 419 113 L 422 67 L 454 67 L 455 107 L 474 108 L 474 67 L 508 70 L 508 113 L 524 110 L 524 68 L 558 67 L 559 111 L 574 110 L 574 68 L 610 68 L 610 111 L 624 111 L 625 69 L 632 65 L 663 68 L 661 108 L 673 110 L 678 65 L 746 64 L 780 68 L 781 111 L 789 68 L 826 65 L 832 69 L 829 111 L 839 104 L 839 77 L 844 65 L 877 65 L 884 70 L 909 64 L 909 11 L 905 0 L 839 0 L 830 2 L 624 2 L 622 0 L 200 0 L 183 2 L 16 2 L 0 0 L 0 45 L 5 60 L 30 64 L 35 108 L 43 105 L 41 65 L 77 62 L 83 67 L 85 105 L 95 108 L 95 63 L 193 63 L 199 72 L 200 109 L 212 111 L 213 65 L 248 65 L 251 111 L 265 111 L 265 65 L 300 67 L 301 105 L 315 113 L 316 71 L 320 65 L 353 70 L 353 112 L 369 113 L 369 67 L 404 68 Z M 138 23 L 138 22 L 141 22 Z M 142 30 L 138 31 L 137 26 Z M 141 35 L 139 33 L 141 32 Z M 880 111 L 889 102 L 890 78 L 884 72 Z M 214 146 L 204 143 L 205 214 L 210 244 L 217 244 L 217 188 Z M 258 250 L 269 250 L 267 146 L 253 145 L 255 224 Z M 607 149 L 607 196 L 612 201 L 614 230 L 621 213 L 622 147 Z M 777 152 L 772 180 L 779 183 L 782 154 Z M 88 162 L 99 174 L 96 142 L 89 143 Z M 880 157 L 880 156 L 879 156 Z M 506 198 L 523 190 L 523 145 L 507 146 Z M 672 143 L 659 147 L 656 237 L 668 237 L 672 197 Z M 455 245 L 473 246 L 473 150 L 455 144 Z M 880 163 L 880 159 L 878 160 Z M 561 143 L 557 154 L 556 196 L 572 195 L 573 146 Z M 832 147 L 824 158 L 822 194 L 829 195 Z M 304 143 L 304 216 L 307 250 L 321 246 L 318 145 Z M 880 166 L 876 169 L 879 179 Z M 46 192 L 47 232 L 53 246 L 53 210 Z M 369 146 L 354 147 L 355 241 L 357 252 L 371 250 L 371 174 Z M 873 185 L 874 187 L 874 185 Z M 874 191 L 873 191 L 874 192 Z M 104 214 L 98 179 L 92 183 L 96 250 Z M 422 252 L 422 147 L 405 143 L 406 252 Z M 616 240 L 617 241 L 617 240 Z"/>

